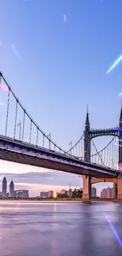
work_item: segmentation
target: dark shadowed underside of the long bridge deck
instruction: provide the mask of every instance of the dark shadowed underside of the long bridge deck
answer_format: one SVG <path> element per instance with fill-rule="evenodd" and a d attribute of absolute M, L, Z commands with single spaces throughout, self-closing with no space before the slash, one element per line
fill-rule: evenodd
<path fill-rule="evenodd" d="M 58 162 L 58 161 L 53 161 L 49 159 L 38 158 L 35 156 L 30 156 L 28 154 L 17 153 L 17 152 L 5 150 L 5 149 L 4 150 L 0 149 L 0 154 L 1 154 L 1 158 L 0 158 L 1 160 L 13 161 L 13 162 L 17 162 L 24 165 L 33 165 L 40 168 L 54 169 L 54 170 L 58 170 L 66 173 L 74 173 L 74 174 L 85 175 L 90 177 L 111 178 L 115 176 L 113 174 L 98 172 L 97 169 L 96 171 L 83 169 L 82 167 L 78 167 L 75 165 L 72 166 L 70 164 L 65 164 L 61 161 Z"/>

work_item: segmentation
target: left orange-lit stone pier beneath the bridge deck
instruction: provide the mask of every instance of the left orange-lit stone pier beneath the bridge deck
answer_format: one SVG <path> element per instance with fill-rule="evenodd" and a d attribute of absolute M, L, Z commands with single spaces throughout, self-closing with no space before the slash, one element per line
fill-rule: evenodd
<path fill-rule="evenodd" d="M 91 178 L 82 175 L 83 177 L 83 199 L 91 199 Z"/>

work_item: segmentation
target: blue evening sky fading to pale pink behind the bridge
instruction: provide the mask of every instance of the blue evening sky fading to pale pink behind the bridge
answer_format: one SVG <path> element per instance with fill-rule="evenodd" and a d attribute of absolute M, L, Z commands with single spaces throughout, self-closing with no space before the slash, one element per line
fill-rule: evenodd
<path fill-rule="evenodd" d="M 115 127 L 122 63 L 106 73 L 122 54 L 122 1 L 0 0 L 0 4 L 0 70 L 39 127 L 68 150 L 68 143 L 76 143 L 83 134 L 87 103 L 91 128 Z M 6 102 L 5 98 L 6 92 L 1 92 L 0 100 Z M 9 133 L 13 109 L 12 104 Z M 5 113 L 6 107 L 0 106 L 0 131 Z M 110 139 L 97 138 L 95 143 L 102 149 Z M 30 195 L 70 183 L 82 187 L 79 176 L 68 173 L 3 161 L 0 170 L 8 181 L 13 178 L 17 188 L 29 187 Z M 98 194 L 108 186 L 95 185 Z"/>

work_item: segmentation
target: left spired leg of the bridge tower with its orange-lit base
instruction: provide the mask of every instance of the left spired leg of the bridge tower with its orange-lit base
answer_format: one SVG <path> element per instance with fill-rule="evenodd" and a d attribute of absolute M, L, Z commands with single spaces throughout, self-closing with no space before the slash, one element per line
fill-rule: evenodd
<path fill-rule="evenodd" d="M 84 161 L 91 162 L 91 138 L 90 138 L 90 121 L 87 106 L 87 117 L 84 131 Z M 83 177 L 83 199 L 91 199 L 91 177 Z"/>

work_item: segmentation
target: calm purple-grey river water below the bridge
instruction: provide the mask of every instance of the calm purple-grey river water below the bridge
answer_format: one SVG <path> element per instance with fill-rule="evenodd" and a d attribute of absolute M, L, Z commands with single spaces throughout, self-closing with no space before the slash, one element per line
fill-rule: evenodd
<path fill-rule="evenodd" d="M 0 202 L 0 256 L 67 255 L 122 255 L 122 205 Z"/>

